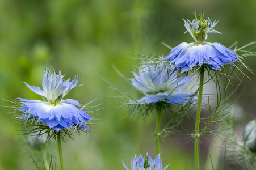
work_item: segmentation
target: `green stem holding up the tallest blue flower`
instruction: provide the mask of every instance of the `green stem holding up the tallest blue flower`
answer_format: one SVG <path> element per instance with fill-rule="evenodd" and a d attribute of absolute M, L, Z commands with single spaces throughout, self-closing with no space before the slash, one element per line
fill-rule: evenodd
<path fill-rule="evenodd" d="M 196 112 L 196 125 L 195 125 L 195 170 L 199 170 L 199 125 L 201 117 L 201 104 L 203 95 L 203 84 L 204 84 L 204 66 L 201 67 L 200 73 L 200 84 L 199 84 L 199 95 L 198 95 L 198 110 Z"/>

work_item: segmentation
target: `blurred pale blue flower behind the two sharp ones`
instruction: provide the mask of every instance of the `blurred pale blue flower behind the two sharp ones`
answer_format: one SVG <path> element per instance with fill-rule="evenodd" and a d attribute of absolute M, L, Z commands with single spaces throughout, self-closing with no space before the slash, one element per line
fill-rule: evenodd
<path fill-rule="evenodd" d="M 193 77 L 178 76 L 173 66 L 166 67 L 165 63 L 156 61 L 146 62 L 139 69 L 139 75 L 133 73 L 133 86 L 145 94 L 137 103 L 185 103 L 194 94 L 184 92 Z M 182 90 L 183 89 L 183 90 Z"/>

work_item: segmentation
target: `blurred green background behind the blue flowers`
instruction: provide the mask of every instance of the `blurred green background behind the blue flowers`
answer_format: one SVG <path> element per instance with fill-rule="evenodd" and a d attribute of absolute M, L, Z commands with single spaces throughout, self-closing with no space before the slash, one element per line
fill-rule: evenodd
<path fill-rule="evenodd" d="M 91 126 L 92 133 L 75 134 L 74 141 L 66 138 L 62 146 L 65 168 L 124 169 L 120 160 L 130 167 L 134 154 L 149 152 L 156 156 L 154 116 L 146 122 L 142 118 L 121 119 L 127 116 L 127 109 L 115 108 L 123 101 L 108 99 L 118 94 L 94 73 L 136 96 L 136 91 L 131 91 L 132 87 L 116 74 L 112 63 L 124 76 L 132 78 L 132 66 L 139 61 L 125 59 L 137 57 L 129 52 L 167 55 L 170 50 L 161 42 L 173 47 L 193 42 L 190 35 L 183 35 L 186 29 L 182 18 L 192 20 L 195 10 L 204 10 L 206 17 L 219 20 L 215 28 L 223 35 L 211 34 L 208 42 L 230 46 L 239 41 L 238 46 L 245 45 L 255 41 L 255 7 L 256 1 L 249 0 L 0 0 L 0 90 L 12 99 L 40 99 L 22 82 L 41 87 L 45 67 L 62 70 L 66 78 L 79 74 L 78 83 L 83 86 L 74 88 L 65 99 L 86 104 L 97 98 L 94 104 L 103 103 L 105 109 L 100 115 L 102 120 L 97 121 L 100 124 Z M 256 69 L 254 57 L 246 58 L 246 63 Z M 256 79 L 253 74 L 248 75 L 251 80 L 245 78 L 237 92 L 246 87 L 237 102 L 242 108 L 242 125 L 255 118 Z M 1 98 L 5 96 L 1 94 Z M 1 101 L 0 105 L 9 104 Z M 40 165 L 41 156 L 36 156 L 27 147 L 26 138 L 18 135 L 16 130 L 22 126 L 11 122 L 10 110 L 1 107 L 0 111 L 0 169 L 36 169 L 29 153 Z M 190 139 L 178 135 L 169 139 L 161 145 L 163 165 L 171 163 L 169 169 L 192 169 Z M 53 161 L 58 169 L 57 145 L 52 142 Z M 202 147 L 202 155 L 208 155 L 207 146 L 205 150 Z M 203 162 L 205 157 L 201 156 Z"/>

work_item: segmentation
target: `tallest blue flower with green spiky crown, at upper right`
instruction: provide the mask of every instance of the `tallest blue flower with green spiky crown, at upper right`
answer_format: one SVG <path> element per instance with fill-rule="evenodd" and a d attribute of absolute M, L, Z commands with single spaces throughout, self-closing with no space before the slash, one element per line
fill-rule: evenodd
<path fill-rule="evenodd" d="M 173 63 L 175 68 L 182 71 L 194 69 L 196 66 L 207 65 L 214 70 L 220 70 L 221 66 L 227 63 L 237 62 L 239 57 L 233 50 L 226 48 L 219 43 L 205 42 L 208 33 L 220 33 L 213 29 L 217 22 L 204 19 L 204 14 L 199 15 L 190 22 L 184 20 L 187 32 L 193 37 L 195 42 L 183 42 L 173 48 L 164 60 Z"/>

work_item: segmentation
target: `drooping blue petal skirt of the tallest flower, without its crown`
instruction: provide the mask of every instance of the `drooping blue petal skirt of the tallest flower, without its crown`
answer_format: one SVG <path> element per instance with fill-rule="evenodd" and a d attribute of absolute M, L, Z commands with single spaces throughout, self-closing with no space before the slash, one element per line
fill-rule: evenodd
<path fill-rule="evenodd" d="M 207 64 L 212 69 L 220 70 L 223 64 L 238 61 L 237 57 L 238 55 L 233 50 L 219 43 L 186 44 L 183 42 L 173 48 L 169 56 L 164 59 L 172 62 L 175 68 L 187 71 L 202 64 Z"/>

